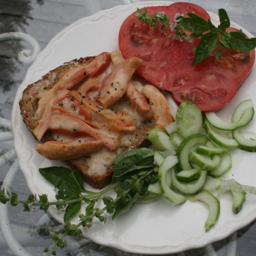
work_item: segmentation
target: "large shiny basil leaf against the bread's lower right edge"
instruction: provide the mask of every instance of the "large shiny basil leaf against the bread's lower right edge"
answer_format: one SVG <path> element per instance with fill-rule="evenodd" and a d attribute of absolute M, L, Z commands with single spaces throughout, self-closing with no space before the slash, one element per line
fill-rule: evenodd
<path fill-rule="evenodd" d="M 125 170 L 132 167 L 132 165 L 136 165 L 142 159 L 146 159 L 148 157 L 154 158 L 154 151 L 149 148 L 137 148 L 119 154 L 114 162 L 113 176 L 122 176 Z"/>

